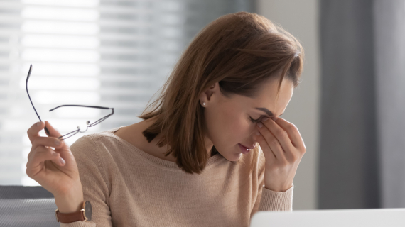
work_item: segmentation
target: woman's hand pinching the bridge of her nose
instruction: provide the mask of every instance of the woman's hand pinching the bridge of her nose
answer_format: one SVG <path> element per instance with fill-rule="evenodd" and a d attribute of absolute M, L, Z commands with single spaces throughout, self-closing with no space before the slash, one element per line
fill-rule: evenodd
<path fill-rule="evenodd" d="M 273 120 L 274 119 L 274 120 Z M 298 128 L 283 118 L 263 118 L 257 123 L 260 135 L 254 135 L 266 159 L 264 187 L 285 192 L 293 179 L 301 158 L 306 152 Z"/>

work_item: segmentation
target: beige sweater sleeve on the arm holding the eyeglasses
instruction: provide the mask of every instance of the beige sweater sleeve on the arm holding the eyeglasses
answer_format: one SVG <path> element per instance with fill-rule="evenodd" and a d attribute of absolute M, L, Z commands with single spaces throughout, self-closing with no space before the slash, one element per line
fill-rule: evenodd
<path fill-rule="evenodd" d="M 109 181 L 102 165 L 101 154 L 95 141 L 88 135 L 70 146 L 75 156 L 82 182 L 83 196 L 92 204 L 91 221 L 60 223 L 60 227 L 107 227 L 112 226 L 109 210 Z"/>

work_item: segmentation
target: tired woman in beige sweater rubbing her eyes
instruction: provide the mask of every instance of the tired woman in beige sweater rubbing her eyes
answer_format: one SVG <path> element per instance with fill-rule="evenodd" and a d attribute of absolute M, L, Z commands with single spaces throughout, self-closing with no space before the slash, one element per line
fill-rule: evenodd
<path fill-rule="evenodd" d="M 257 211 L 292 210 L 306 148 L 278 116 L 302 67 L 298 41 L 263 16 L 222 16 L 190 43 L 144 121 L 71 148 L 38 122 L 26 172 L 55 196 L 61 226 L 249 226 Z M 83 216 L 83 201 L 91 221 L 66 219 Z"/>

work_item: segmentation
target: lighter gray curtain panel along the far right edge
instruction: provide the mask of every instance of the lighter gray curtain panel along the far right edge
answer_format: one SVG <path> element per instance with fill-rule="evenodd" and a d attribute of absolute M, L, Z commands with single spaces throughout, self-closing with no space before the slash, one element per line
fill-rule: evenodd
<path fill-rule="evenodd" d="M 405 207 L 405 1 L 374 1 L 377 138 L 384 208 Z"/>

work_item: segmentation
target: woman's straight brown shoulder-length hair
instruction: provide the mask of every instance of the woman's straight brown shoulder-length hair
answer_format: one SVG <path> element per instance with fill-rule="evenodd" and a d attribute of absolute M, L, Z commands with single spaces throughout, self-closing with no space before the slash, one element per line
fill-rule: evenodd
<path fill-rule="evenodd" d="M 156 101 L 139 118 L 156 121 L 143 132 L 150 143 L 162 133 L 158 146 L 170 145 L 178 167 L 200 173 L 210 158 L 205 148 L 204 108 L 199 95 L 219 82 L 229 97 L 254 98 L 261 84 L 278 76 L 296 87 L 303 69 L 303 50 L 291 34 L 256 13 L 231 13 L 202 29 L 183 52 Z M 278 72 L 278 73 L 277 73 Z M 144 111 L 144 112 L 145 112 Z M 215 146 L 212 153 L 217 153 Z M 254 148 L 254 157 L 259 146 Z"/>

